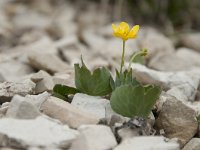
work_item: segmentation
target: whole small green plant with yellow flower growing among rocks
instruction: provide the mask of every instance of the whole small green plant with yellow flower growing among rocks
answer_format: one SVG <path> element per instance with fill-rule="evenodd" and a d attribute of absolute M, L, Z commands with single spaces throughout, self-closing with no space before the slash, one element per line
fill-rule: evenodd
<path fill-rule="evenodd" d="M 143 62 L 143 56 L 147 50 L 143 49 L 134 53 L 129 61 L 129 66 L 124 69 L 125 44 L 128 39 L 137 37 L 139 25 L 132 29 L 126 22 L 118 26 L 112 25 L 113 35 L 122 39 L 122 57 L 119 71 L 116 69 L 116 78 L 112 78 L 105 67 L 97 68 L 91 72 L 81 58 L 81 66 L 75 64 L 76 88 L 56 85 L 53 89 L 54 96 L 67 100 L 68 95 L 75 93 L 86 93 L 93 96 L 111 95 L 110 104 L 112 109 L 125 117 L 147 118 L 153 105 L 160 95 L 160 88 L 153 85 L 141 85 L 135 78 L 131 69 L 132 62 Z"/>

